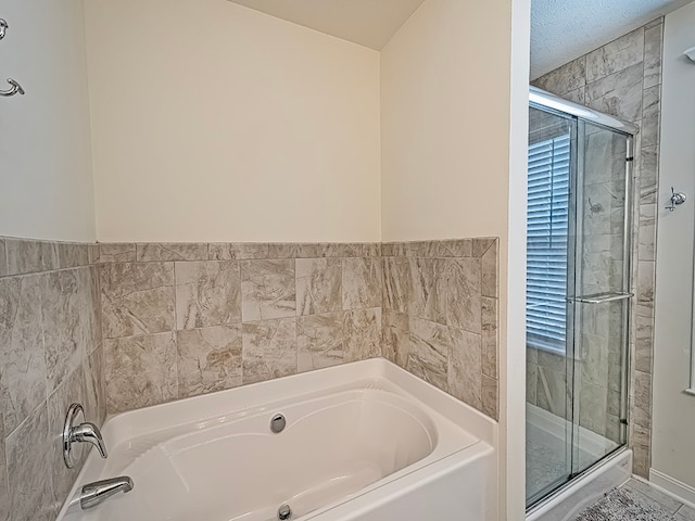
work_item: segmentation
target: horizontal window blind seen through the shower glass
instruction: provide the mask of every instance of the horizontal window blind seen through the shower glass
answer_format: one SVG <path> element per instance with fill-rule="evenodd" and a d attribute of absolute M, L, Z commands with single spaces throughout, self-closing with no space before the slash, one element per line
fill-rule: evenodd
<path fill-rule="evenodd" d="M 529 145 L 527 342 L 565 351 L 570 136 Z"/>

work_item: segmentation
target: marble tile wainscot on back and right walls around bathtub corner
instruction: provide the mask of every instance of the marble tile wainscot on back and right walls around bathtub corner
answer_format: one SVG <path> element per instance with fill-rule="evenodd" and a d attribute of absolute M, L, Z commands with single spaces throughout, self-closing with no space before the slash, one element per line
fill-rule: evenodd
<path fill-rule="evenodd" d="M 387 356 L 497 418 L 496 249 L 100 244 L 109 412 Z"/>

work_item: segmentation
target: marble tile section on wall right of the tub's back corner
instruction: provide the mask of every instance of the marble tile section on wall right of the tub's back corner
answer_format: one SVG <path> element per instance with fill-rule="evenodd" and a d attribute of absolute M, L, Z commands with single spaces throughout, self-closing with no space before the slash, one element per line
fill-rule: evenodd
<path fill-rule="evenodd" d="M 498 418 L 497 240 L 383 244 L 383 354 Z"/>

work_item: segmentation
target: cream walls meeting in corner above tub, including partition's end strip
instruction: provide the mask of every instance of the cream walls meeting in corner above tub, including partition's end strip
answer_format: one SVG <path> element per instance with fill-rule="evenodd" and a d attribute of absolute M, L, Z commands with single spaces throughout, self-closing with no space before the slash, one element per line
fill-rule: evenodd
<path fill-rule="evenodd" d="M 86 21 L 101 241 L 501 238 L 500 519 L 522 519 L 528 1 L 427 0 L 381 55 L 226 0 Z"/>

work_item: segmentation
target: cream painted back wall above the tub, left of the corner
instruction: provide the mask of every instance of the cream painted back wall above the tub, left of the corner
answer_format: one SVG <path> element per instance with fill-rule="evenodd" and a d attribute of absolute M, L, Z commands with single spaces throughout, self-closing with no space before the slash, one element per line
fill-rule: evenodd
<path fill-rule="evenodd" d="M 85 13 L 100 241 L 380 239 L 377 51 L 226 0 Z"/>

